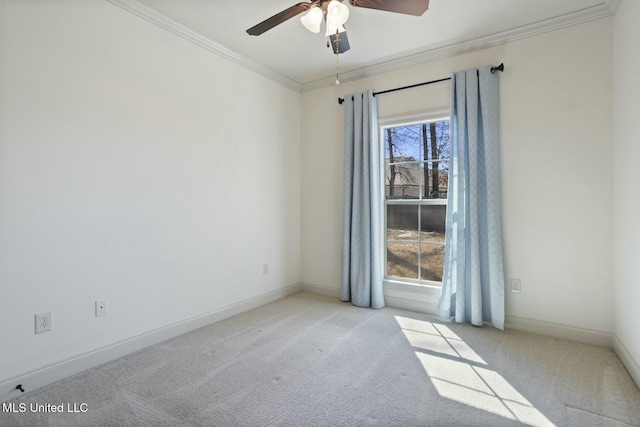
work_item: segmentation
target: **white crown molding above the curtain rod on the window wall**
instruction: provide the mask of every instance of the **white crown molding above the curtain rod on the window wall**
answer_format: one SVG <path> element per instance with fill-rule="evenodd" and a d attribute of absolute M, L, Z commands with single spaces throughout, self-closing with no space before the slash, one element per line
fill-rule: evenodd
<path fill-rule="evenodd" d="M 493 46 L 509 43 L 512 41 L 537 36 L 551 31 L 560 30 L 574 25 L 584 24 L 599 19 L 613 16 L 613 10 L 619 5 L 621 0 L 606 0 L 600 5 L 592 6 L 576 12 L 561 15 L 555 18 L 546 19 L 525 25 L 501 33 L 476 38 L 473 40 L 457 40 L 446 45 L 435 46 L 427 51 L 418 52 L 412 55 L 393 58 L 375 65 L 363 67 L 351 71 L 340 73 L 340 81 L 346 83 L 353 80 L 360 80 L 377 74 L 383 74 L 398 69 L 421 65 L 438 59 L 474 52 Z M 314 80 L 302 85 L 302 92 L 328 87 L 334 85 L 335 76 Z"/>

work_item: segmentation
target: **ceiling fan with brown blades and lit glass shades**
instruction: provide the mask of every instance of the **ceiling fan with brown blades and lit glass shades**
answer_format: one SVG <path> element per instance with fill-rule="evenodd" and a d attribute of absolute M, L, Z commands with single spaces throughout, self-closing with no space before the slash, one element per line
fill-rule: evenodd
<path fill-rule="evenodd" d="M 344 29 L 344 23 L 349 18 L 349 8 L 342 4 L 343 0 L 312 0 L 295 4 L 280 13 L 265 19 L 247 30 L 252 36 L 260 34 L 282 24 L 283 22 L 308 11 L 301 18 L 302 24 L 311 32 L 320 32 L 320 26 L 326 23 L 325 36 L 329 37 L 333 53 L 336 55 L 349 50 L 349 39 Z M 349 0 L 354 7 L 377 9 L 386 12 L 403 13 L 421 16 L 429 8 L 429 0 Z M 327 43 L 329 46 L 329 43 Z"/>

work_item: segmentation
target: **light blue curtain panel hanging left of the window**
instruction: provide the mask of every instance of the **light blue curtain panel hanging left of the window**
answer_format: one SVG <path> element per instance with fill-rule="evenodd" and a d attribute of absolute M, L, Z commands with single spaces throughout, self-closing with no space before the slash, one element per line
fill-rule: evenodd
<path fill-rule="evenodd" d="M 371 91 L 345 97 L 344 215 L 340 299 L 384 307 L 382 187 L 376 99 Z"/>

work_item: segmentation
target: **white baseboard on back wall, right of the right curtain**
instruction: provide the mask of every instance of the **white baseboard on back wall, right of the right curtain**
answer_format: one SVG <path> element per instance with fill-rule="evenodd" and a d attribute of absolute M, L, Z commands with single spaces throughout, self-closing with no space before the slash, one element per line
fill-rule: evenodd
<path fill-rule="evenodd" d="M 511 329 L 514 331 L 546 335 L 548 337 L 577 341 L 584 344 L 599 345 L 601 347 L 611 348 L 613 344 L 613 334 L 609 332 L 576 328 L 574 326 L 526 319 L 524 317 L 506 316 L 504 327 L 505 329 Z"/>

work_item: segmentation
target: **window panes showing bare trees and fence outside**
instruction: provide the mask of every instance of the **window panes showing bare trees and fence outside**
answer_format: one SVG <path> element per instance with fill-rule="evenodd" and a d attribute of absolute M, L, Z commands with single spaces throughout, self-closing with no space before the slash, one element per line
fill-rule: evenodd
<path fill-rule="evenodd" d="M 388 279 L 442 282 L 449 127 L 440 117 L 381 128 Z"/>

